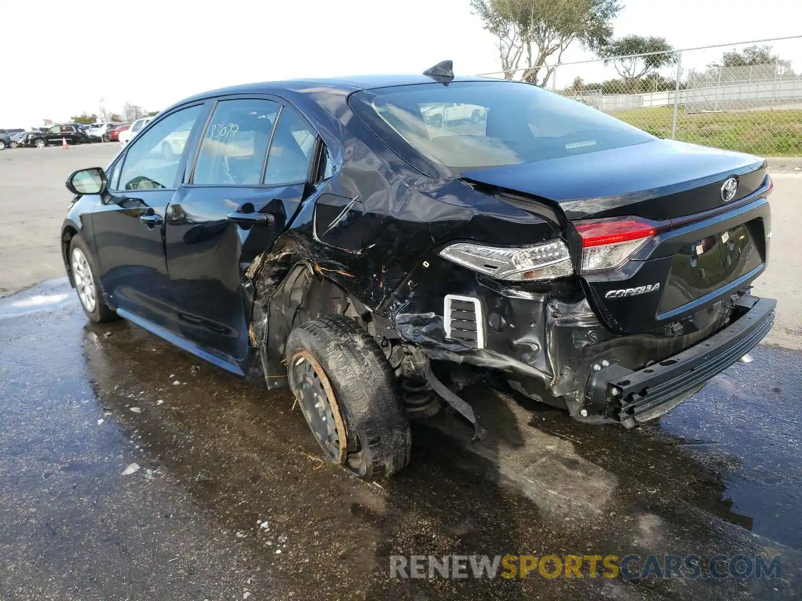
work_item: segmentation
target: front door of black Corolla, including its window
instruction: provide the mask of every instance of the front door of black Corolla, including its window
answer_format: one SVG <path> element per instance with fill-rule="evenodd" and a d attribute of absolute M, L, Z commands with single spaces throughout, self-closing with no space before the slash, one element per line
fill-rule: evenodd
<path fill-rule="evenodd" d="M 137 136 L 115 162 L 108 192 L 92 216 L 99 281 L 111 303 L 124 317 L 173 333 L 178 326 L 164 258 L 164 215 L 187 153 L 164 155 L 162 143 L 176 131 L 193 139 L 206 111 L 204 103 L 182 107 Z"/>

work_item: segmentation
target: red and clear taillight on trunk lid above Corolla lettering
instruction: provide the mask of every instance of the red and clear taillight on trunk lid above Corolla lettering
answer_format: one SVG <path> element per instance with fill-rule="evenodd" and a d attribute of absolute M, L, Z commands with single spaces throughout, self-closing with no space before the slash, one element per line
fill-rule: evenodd
<path fill-rule="evenodd" d="M 581 273 L 618 269 L 656 233 L 653 222 L 638 217 L 614 217 L 573 224 L 582 240 Z"/>

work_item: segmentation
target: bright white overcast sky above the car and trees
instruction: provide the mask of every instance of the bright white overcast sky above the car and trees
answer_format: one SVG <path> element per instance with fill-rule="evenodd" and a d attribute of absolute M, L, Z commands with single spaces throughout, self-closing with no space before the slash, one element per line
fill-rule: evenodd
<path fill-rule="evenodd" d="M 802 34 L 800 0 L 621 0 L 614 34 L 655 35 L 676 48 Z M 187 8 L 190 6 L 191 8 Z M 6 0 L 0 47 L 0 127 L 67 120 L 101 103 L 160 110 L 201 91 L 276 79 L 419 73 L 450 58 L 458 75 L 500 69 L 494 40 L 468 0 Z M 60 24 L 56 26 L 56 24 Z M 47 34 L 30 39 L 30 27 Z M 772 42 L 802 71 L 802 38 Z M 703 68 L 727 48 L 696 51 Z M 563 61 L 593 54 L 569 48 Z M 600 63 L 561 67 L 557 87 L 581 75 L 613 77 Z"/>

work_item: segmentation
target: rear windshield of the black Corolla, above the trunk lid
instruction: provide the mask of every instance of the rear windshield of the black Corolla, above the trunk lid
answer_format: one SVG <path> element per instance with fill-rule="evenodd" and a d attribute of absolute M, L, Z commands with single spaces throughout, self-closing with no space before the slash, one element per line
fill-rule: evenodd
<path fill-rule="evenodd" d="M 362 91 L 352 99 L 354 110 L 379 128 L 376 133 L 396 153 L 404 157 L 412 147 L 429 161 L 457 170 L 532 163 L 654 139 L 525 83 L 425 83 Z"/>

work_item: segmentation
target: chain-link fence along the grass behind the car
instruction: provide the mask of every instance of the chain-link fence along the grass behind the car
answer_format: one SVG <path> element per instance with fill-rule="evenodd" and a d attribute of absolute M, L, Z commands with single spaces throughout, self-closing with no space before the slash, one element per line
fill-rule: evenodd
<path fill-rule="evenodd" d="M 545 87 L 661 138 L 802 156 L 802 36 L 562 63 Z"/>

